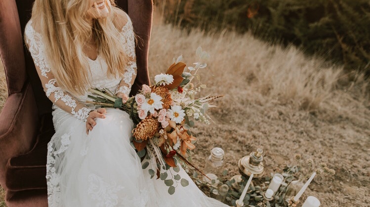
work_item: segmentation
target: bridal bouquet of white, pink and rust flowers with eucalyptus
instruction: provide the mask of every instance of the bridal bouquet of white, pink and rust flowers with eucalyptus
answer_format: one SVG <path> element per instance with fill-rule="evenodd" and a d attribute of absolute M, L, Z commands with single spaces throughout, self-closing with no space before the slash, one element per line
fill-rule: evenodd
<path fill-rule="evenodd" d="M 210 105 L 212 100 L 221 97 L 197 97 L 201 89 L 206 88 L 200 83 L 197 72 L 206 68 L 203 60 L 209 55 L 201 47 L 198 47 L 196 54 L 199 61 L 194 63 L 194 67 L 187 67 L 188 72 L 184 72 L 186 64 L 180 62 L 182 56 L 179 56 L 164 74 L 155 76 L 154 85 L 144 84 L 142 90 L 124 104 L 121 98 L 107 89 L 90 89 L 93 95 L 88 96 L 94 100 L 88 103 L 96 107 L 119 108 L 130 115 L 136 124 L 132 130 L 133 147 L 140 158 L 146 156 L 148 160 L 142 167 L 151 166 L 149 173 L 164 180 L 170 194 L 175 191 L 174 184 L 188 185 L 188 181 L 176 173 L 179 172 L 178 165 L 193 166 L 187 160 L 190 151 L 195 149 L 196 141 L 190 128 L 195 122 L 209 124 L 206 111 L 213 107 Z M 198 83 L 193 83 L 194 79 Z M 168 170 L 170 167 L 173 167 L 172 170 Z"/>

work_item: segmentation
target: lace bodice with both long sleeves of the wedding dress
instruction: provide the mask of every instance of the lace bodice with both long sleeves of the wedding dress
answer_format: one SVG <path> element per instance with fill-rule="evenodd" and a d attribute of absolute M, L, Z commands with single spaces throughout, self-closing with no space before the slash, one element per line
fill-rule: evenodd
<path fill-rule="evenodd" d="M 126 14 L 126 13 L 125 13 Z M 123 45 L 124 51 L 129 56 L 130 61 L 125 68 L 123 77 L 114 78 L 107 77 L 107 63 L 104 57 L 98 55 L 96 60 L 91 60 L 87 56 L 88 64 L 91 73 L 89 73 L 89 81 L 91 86 L 98 89 L 108 88 L 111 91 L 122 92 L 128 96 L 131 85 L 136 77 L 136 55 L 135 55 L 135 39 L 132 27 L 132 22 L 127 16 L 127 22 L 121 31 L 121 37 L 126 44 Z M 26 43 L 28 44 L 32 58 L 35 62 L 37 72 L 39 74 L 43 89 L 46 96 L 53 102 L 53 109 L 60 108 L 74 117 L 86 121 L 88 113 L 91 111 L 89 107 L 84 105 L 88 100 L 86 91 L 84 95 L 74 97 L 68 91 L 58 87 L 58 83 L 50 70 L 49 60 L 46 59 L 44 53 L 44 43 L 41 34 L 36 32 L 30 20 L 25 28 Z"/>

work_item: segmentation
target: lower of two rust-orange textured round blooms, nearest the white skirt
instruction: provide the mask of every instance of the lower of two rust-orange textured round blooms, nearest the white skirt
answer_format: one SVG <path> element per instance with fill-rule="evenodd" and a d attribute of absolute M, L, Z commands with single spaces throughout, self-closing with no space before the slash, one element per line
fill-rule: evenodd
<path fill-rule="evenodd" d="M 148 116 L 136 125 L 136 128 L 133 129 L 132 133 L 137 140 L 147 140 L 154 136 L 158 131 L 158 128 L 159 122 L 151 116 Z"/>

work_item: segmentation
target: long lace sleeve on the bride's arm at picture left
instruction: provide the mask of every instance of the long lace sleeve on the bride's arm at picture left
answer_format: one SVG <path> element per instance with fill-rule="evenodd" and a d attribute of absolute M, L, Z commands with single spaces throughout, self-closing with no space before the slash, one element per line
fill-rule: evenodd
<path fill-rule="evenodd" d="M 32 27 L 32 21 L 28 22 L 26 25 L 25 37 L 26 44 L 31 52 L 46 96 L 56 106 L 85 122 L 91 109 L 78 102 L 70 93 L 63 91 L 58 87 L 58 83 L 50 72 L 50 66 L 44 54 L 44 45 L 42 43 L 41 34 L 34 30 Z"/>

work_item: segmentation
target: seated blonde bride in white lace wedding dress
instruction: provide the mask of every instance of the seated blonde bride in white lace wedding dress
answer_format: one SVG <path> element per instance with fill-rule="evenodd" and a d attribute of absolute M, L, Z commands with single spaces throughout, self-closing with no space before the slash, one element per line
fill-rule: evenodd
<path fill-rule="evenodd" d="M 48 143 L 50 207 L 216 207 L 190 181 L 169 195 L 143 171 L 130 145 L 133 123 L 118 109 L 85 106 L 88 88 L 128 99 L 136 77 L 135 36 L 114 0 L 36 0 L 25 29 L 55 134 Z"/>

